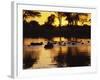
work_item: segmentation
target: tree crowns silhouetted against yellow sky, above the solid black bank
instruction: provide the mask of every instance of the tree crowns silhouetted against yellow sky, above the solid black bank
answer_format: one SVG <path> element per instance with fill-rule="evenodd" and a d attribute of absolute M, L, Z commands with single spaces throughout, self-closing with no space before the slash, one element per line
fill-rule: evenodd
<path fill-rule="evenodd" d="M 80 21 L 82 25 L 85 22 L 91 22 L 91 20 L 87 20 L 88 13 L 76 13 L 76 12 L 54 12 L 55 14 L 51 14 L 47 17 L 47 22 L 44 24 L 51 25 L 54 23 L 55 18 L 58 18 L 59 26 L 62 24 L 62 18 L 65 17 L 66 21 L 68 21 L 68 26 L 78 26 L 78 22 Z M 39 11 L 33 10 L 23 10 L 23 20 L 27 20 L 27 18 L 41 17 L 42 13 Z M 81 18 L 80 18 L 81 16 Z M 83 16 L 83 17 L 82 17 Z"/>

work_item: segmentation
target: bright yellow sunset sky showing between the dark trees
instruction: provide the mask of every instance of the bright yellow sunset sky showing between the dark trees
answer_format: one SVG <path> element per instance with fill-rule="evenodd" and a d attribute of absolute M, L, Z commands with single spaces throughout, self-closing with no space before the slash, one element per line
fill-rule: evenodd
<path fill-rule="evenodd" d="M 40 12 L 41 16 L 40 17 L 32 17 L 32 16 L 28 16 L 25 20 L 27 22 L 30 22 L 32 20 L 35 20 L 37 21 L 40 25 L 43 25 L 48 17 L 51 15 L 51 14 L 54 14 L 56 17 L 55 17 L 55 20 L 54 20 L 54 23 L 52 25 L 54 26 L 58 26 L 59 25 L 59 20 L 57 18 L 57 13 L 56 12 L 46 12 L 46 11 L 38 11 Z M 88 16 L 85 16 L 85 15 L 80 15 L 79 16 L 79 21 L 78 21 L 78 25 L 82 25 L 82 22 L 84 22 L 84 24 L 86 25 L 91 25 L 91 22 L 89 21 L 91 19 L 91 14 L 89 13 L 86 13 Z M 61 20 L 61 25 L 62 26 L 65 26 L 68 24 L 68 21 L 66 20 L 67 17 L 62 17 L 62 20 Z"/>

